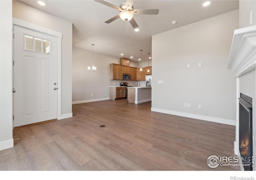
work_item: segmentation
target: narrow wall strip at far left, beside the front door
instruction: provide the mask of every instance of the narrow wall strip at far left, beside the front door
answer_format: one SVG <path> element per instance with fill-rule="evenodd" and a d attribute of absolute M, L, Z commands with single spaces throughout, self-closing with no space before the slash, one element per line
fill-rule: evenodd
<path fill-rule="evenodd" d="M 3 150 L 13 147 L 12 1 L 0 1 L 0 24 L 0 150 Z"/>

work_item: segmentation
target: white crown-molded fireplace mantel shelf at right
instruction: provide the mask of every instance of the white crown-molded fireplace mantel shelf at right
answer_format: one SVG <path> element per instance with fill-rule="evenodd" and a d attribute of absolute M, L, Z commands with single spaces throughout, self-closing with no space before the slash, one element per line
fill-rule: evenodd
<path fill-rule="evenodd" d="M 234 30 L 228 59 L 228 69 L 235 77 L 242 76 L 256 67 L 256 26 Z"/>

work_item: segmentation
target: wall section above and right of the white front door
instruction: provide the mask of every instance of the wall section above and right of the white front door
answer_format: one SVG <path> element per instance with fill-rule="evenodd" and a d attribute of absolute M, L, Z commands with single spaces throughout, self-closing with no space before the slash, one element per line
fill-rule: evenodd
<path fill-rule="evenodd" d="M 72 23 L 18 1 L 13 1 L 12 16 L 63 34 L 61 112 L 72 113 Z"/>

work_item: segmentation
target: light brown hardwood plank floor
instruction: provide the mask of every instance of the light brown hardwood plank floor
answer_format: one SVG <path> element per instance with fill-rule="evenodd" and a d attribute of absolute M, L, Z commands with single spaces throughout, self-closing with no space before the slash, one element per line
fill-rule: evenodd
<path fill-rule="evenodd" d="M 240 170 L 206 164 L 213 154 L 234 156 L 234 126 L 150 107 L 127 100 L 74 104 L 72 118 L 14 128 L 19 140 L 0 151 L 0 170 Z"/>

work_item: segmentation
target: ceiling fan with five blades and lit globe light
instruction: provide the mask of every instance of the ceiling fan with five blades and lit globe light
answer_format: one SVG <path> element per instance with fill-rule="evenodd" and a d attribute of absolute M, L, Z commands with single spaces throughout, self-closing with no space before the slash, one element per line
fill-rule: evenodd
<path fill-rule="evenodd" d="M 126 21 L 126 22 L 130 21 L 133 28 L 138 28 L 139 26 L 133 18 L 134 14 L 158 14 L 158 12 L 159 12 L 159 9 L 136 9 L 136 10 L 134 10 L 134 8 L 133 8 L 134 0 L 126 0 L 126 2 L 123 2 L 122 4 L 120 4 L 119 7 L 115 6 L 113 4 L 110 4 L 106 1 L 102 1 L 102 0 L 94 0 L 94 1 L 120 11 L 120 13 L 118 15 L 114 16 L 113 18 L 111 18 L 105 22 L 108 24 L 118 18 L 121 18 L 123 21 Z"/>

